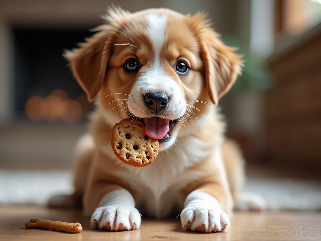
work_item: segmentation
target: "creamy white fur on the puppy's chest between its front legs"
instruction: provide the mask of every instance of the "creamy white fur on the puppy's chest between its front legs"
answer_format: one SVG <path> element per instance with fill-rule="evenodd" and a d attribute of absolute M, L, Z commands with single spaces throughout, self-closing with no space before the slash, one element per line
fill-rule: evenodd
<path fill-rule="evenodd" d="M 200 127 L 189 125 L 181 129 L 176 144 L 166 151 L 159 152 L 156 160 L 143 168 L 120 162 L 110 146 L 102 147 L 102 151 L 120 167 L 110 171 L 110 174 L 125 180 L 135 190 L 134 199 L 138 209 L 143 207 L 148 215 L 161 218 L 167 216 L 176 205 L 183 207 L 184 200 L 180 190 L 204 176 L 201 171 L 190 167 L 215 152 L 214 148 L 220 148 L 219 143 L 222 141 L 224 125 L 219 121 L 218 115 L 211 110 L 205 115 L 205 119 L 208 119 L 208 123 L 211 122 L 212 128 L 208 128 L 202 118 L 199 124 L 204 131 L 211 132 L 211 138 L 214 140 L 211 146 L 194 136 L 193 133 L 200 131 L 196 128 Z"/>

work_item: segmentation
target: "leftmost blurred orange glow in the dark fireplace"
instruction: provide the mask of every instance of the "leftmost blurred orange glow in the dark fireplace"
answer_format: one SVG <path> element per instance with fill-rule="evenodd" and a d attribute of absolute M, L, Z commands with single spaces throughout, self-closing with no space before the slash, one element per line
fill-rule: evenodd
<path fill-rule="evenodd" d="M 31 121 L 42 121 L 47 115 L 45 100 L 38 95 L 30 97 L 25 104 L 25 112 Z"/>

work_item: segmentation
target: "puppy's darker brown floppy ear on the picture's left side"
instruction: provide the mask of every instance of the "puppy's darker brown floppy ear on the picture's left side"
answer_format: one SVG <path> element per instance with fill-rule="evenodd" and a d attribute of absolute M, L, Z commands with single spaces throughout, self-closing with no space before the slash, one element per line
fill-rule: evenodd
<path fill-rule="evenodd" d="M 99 32 L 86 39 L 86 42 L 80 43 L 80 48 L 66 51 L 64 54 L 89 101 L 95 99 L 104 82 L 113 46 L 111 26 L 101 25 L 95 31 Z"/>

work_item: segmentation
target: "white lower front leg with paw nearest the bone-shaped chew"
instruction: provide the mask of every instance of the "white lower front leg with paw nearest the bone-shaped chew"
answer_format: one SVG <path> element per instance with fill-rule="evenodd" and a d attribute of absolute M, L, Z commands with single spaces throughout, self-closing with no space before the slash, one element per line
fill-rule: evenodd
<path fill-rule="evenodd" d="M 138 229 L 141 215 L 135 209 L 135 201 L 126 189 L 107 193 L 91 216 L 91 226 L 109 231 Z"/>

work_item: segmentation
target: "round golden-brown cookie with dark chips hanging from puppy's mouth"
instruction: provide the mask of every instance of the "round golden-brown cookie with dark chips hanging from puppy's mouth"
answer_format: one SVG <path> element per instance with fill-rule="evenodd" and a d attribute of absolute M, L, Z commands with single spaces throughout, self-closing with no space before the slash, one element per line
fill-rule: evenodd
<path fill-rule="evenodd" d="M 125 164 L 143 167 L 156 159 L 159 142 L 145 133 L 143 122 L 123 119 L 111 130 L 111 147 Z"/>

